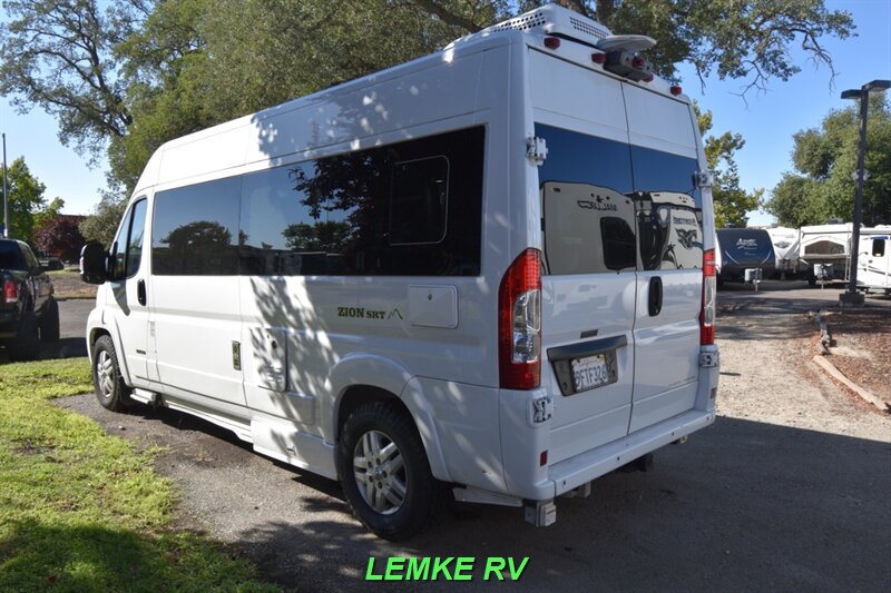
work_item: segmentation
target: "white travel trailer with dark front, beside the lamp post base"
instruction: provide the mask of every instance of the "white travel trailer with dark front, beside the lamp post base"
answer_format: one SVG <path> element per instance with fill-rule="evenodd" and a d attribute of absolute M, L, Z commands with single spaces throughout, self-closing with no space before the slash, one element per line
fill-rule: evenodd
<path fill-rule="evenodd" d="M 813 274 L 817 264 L 832 266 L 830 280 L 848 280 L 851 277 L 851 237 L 854 226 L 851 223 L 806 226 L 799 229 L 800 263 L 805 267 L 807 281 L 813 286 Z M 891 226 L 861 227 L 860 236 L 891 234 Z"/>

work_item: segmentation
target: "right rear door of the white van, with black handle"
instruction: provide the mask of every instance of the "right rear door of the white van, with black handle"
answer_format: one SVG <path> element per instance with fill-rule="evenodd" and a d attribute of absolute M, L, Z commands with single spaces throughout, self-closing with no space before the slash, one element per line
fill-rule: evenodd
<path fill-rule="evenodd" d="M 689 106 L 623 82 L 640 266 L 635 307 L 634 433 L 693 408 L 699 372 L 702 192 Z"/>

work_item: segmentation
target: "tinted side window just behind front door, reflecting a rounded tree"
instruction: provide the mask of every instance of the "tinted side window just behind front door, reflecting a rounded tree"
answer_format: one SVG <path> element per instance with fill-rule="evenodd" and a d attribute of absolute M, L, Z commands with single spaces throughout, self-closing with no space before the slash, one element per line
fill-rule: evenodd
<path fill-rule="evenodd" d="M 227 178 L 156 194 L 153 273 L 237 275 L 241 187 L 241 178 Z"/>

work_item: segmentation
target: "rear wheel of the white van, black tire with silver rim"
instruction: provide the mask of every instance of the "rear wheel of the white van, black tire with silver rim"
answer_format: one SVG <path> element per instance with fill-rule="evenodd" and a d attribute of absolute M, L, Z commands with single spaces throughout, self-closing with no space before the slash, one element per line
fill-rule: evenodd
<path fill-rule="evenodd" d="M 380 451 L 395 448 L 368 459 L 364 452 L 373 449 L 374 442 L 383 445 Z M 337 474 L 353 514 L 384 540 L 407 540 L 428 527 L 446 498 L 443 484 L 430 472 L 414 422 L 394 402 L 366 404 L 346 418 L 337 446 Z"/>

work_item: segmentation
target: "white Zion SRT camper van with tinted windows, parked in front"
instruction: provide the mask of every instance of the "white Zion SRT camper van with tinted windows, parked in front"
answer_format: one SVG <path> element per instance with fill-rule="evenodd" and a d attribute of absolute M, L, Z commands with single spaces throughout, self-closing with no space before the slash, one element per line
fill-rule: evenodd
<path fill-rule="evenodd" d="M 714 422 L 711 176 L 654 41 L 547 6 L 161 146 L 87 339 L 163 405 L 339 478 L 386 538 L 555 498 Z"/>

